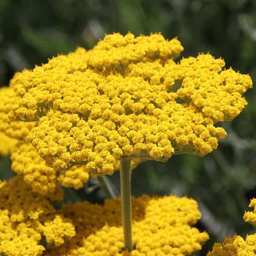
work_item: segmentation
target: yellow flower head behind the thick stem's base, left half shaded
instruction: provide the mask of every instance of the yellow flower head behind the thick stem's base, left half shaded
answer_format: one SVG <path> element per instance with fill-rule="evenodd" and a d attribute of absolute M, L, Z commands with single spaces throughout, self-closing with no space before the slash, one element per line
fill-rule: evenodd
<path fill-rule="evenodd" d="M 104 206 L 88 202 L 64 205 L 59 211 L 76 226 L 76 235 L 44 256 L 172 256 L 190 255 L 208 240 L 192 228 L 200 218 L 196 201 L 176 196 L 132 198 L 132 252 L 123 250 L 120 198 Z M 104 218 L 102 217 L 104 216 Z"/>

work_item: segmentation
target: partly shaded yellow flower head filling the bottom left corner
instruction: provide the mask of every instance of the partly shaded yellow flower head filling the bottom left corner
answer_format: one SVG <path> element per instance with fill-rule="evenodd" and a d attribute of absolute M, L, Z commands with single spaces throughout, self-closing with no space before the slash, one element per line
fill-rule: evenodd
<path fill-rule="evenodd" d="M 45 246 L 60 246 L 75 235 L 71 220 L 56 214 L 50 201 L 32 192 L 21 176 L 0 183 L 0 206 L 1 255 L 41 255 Z"/>

